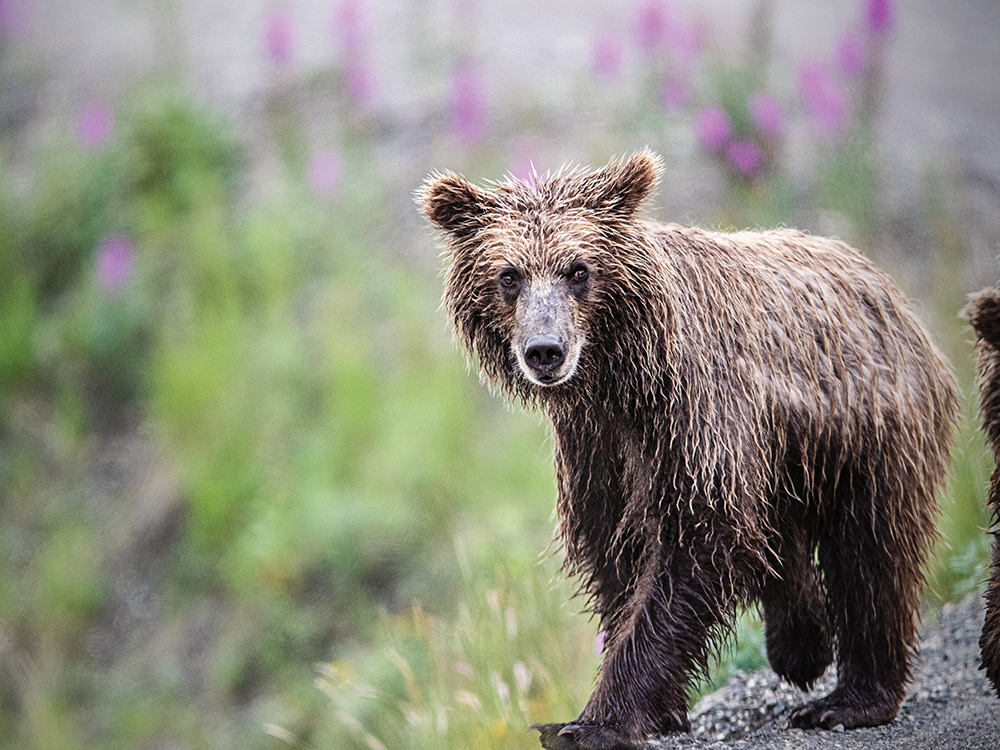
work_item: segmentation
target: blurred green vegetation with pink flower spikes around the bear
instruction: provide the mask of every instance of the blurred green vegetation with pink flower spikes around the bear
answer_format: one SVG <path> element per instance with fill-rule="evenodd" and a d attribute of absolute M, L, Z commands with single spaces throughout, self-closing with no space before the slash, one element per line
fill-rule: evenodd
<path fill-rule="evenodd" d="M 635 8 L 651 23 L 655 6 Z M 725 186 L 718 223 L 832 216 L 916 279 L 971 393 L 966 249 L 937 183 L 927 257 L 879 230 L 881 58 L 819 93 L 806 76 L 796 98 L 771 84 L 755 18 L 737 59 L 681 56 L 646 27 L 648 75 L 613 117 L 668 158 L 671 133 L 696 134 Z M 0 747 L 527 748 L 528 724 L 586 700 L 594 623 L 543 552 L 544 425 L 470 375 L 437 269 L 384 242 L 397 186 L 352 55 L 320 81 L 344 120 L 323 158 L 294 97 L 273 98 L 264 194 L 247 189 L 260 144 L 179 86 L 137 84 L 113 126 L 96 111 L 84 135 L 46 140 L 27 180 L 0 140 Z M 427 171 L 515 150 L 483 135 L 462 55 L 456 132 L 436 134 L 459 163 Z M 608 60 L 581 107 L 609 96 Z M 646 95 L 681 74 L 669 101 Z M 814 117 L 803 184 L 787 139 Z M 932 605 L 983 577 L 989 462 L 966 411 Z M 738 633 L 711 684 L 766 663 L 753 613 Z"/>

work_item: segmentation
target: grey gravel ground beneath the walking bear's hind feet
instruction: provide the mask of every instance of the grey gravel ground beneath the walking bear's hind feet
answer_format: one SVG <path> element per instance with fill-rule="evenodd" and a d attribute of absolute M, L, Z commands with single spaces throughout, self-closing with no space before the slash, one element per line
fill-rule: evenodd
<path fill-rule="evenodd" d="M 996 750 L 1000 700 L 979 669 L 982 625 L 977 595 L 927 618 L 916 679 L 896 720 L 887 726 L 847 732 L 789 729 L 789 713 L 809 697 L 825 695 L 836 677 L 827 674 L 807 695 L 763 669 L 734 677 L 702 698 L 692 712 L 690 735 L 653 741 L 649 748 Z"/>

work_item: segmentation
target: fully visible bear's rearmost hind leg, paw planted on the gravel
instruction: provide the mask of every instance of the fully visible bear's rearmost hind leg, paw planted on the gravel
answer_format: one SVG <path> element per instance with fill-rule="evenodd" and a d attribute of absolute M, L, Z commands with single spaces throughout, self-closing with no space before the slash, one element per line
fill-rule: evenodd
<path fill-rule="evenodd" d="M 906 524 L 895 498 L 876 505 L 869 476 L 842 480 L 846 493 L 825 519 L 819 561 L 837 643 L 837 687 L 792 712 L 792 726 L 847 729 L 886 724 L 896 716 L 910 678 L 914 616 L 930 543 L 932 515 L 915 501 Z M 893 508 L 895 511 L 893 512 Z M 895 517 L 894 517 L 895 516 Z"/>

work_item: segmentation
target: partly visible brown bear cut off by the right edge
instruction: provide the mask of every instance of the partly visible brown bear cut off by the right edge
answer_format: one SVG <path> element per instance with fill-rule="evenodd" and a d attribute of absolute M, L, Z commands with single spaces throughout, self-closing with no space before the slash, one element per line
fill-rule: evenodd
<path fill-rule="evenodd" d="M 993 508 L 993 564 L 986 588 L 986 622 L 979 638 L 983 669 L 1000 695 L 1000 289 L 974 295 L 965 315 L 976 331 L 979 359 L 979 409 L 983 431 L 993 449 L 996 466 L 990 480 L 989 504 Z"/>

